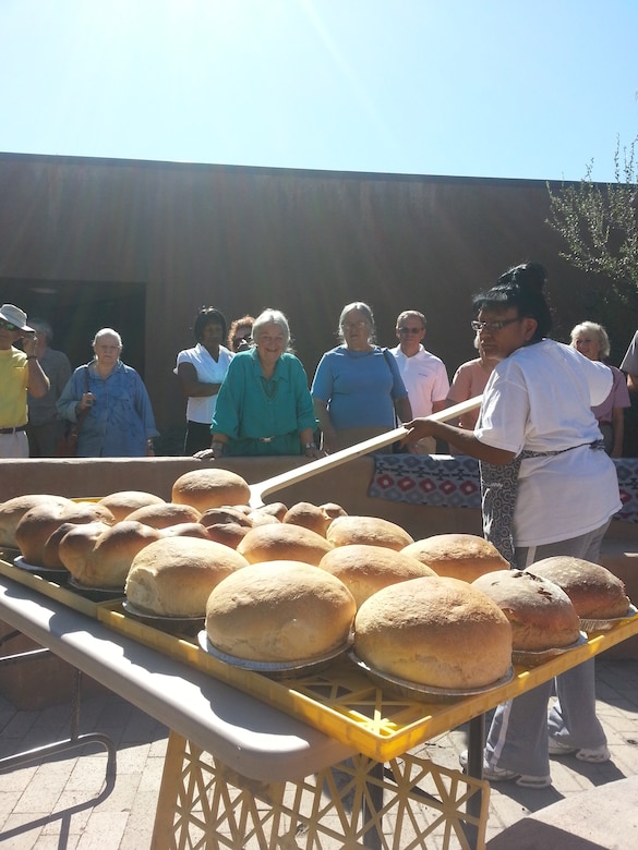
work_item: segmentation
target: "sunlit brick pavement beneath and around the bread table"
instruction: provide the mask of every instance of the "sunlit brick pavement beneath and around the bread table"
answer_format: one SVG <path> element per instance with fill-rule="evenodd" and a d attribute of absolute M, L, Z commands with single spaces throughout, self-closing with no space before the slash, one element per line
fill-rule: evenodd
<path fill-rule="evenodd" d="M 597 683 L 598 709 L 612 761 L 589 765 L 573 756 L 554 758 L 553 786 L 539 791 L 495 784 L 487 839 L 563 798 L 638 774 L 638 661 L 606 660 L 603 655 L 597 661 Z M 16 711 L 0 697 L 0 756 L 65 738 L 70 715 L 70 704 Z M 109 787 L 106 781 L 106 754 L 91 754 L 88 749 L 86 755 L 72 751 L 0 774 L 0 843 L 8 850 L 149 848 L 167 729 L 120 697 L 98 691 L 82 702 L 80 731 L 105 732 L 116 742 L 115 785 Z M 417 752 L 443 766 L 457 767 L 466 739 L 461 728 Z M 610 824 L 610 848 L 624 850 L 622 837 L 618 843 L 614 840 Z"/>

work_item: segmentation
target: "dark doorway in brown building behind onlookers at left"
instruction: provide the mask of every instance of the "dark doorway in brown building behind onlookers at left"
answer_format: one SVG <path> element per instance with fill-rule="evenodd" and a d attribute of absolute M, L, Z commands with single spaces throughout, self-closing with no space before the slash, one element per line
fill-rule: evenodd
<path fill-rule="evenodd" d="M 3 278 L 0 299 L 29 318 L 46 319 L 53 328 L 52 348 L 63 351 L 73 367 L 91 360 L 96 331 L 113 328 L 122 337 L 122 360 L 144 377 L 144 283 Z"/>

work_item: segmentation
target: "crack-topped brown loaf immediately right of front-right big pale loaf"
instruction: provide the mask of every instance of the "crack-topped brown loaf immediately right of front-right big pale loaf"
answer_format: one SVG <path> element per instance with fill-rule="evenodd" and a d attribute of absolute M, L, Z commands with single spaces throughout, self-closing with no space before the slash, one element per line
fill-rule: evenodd
<path fill-rule="evenodd" d="M 544 652 L 576 643 L 580 620 L 557 584 L 525 570 L 496 570 L 472 582 L 511 623 L 511 647 Z"/>

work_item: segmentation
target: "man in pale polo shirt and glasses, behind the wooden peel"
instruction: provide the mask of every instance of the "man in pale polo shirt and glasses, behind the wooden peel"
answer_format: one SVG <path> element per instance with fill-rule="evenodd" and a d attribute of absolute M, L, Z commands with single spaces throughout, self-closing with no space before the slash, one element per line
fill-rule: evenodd
<path fill-rule="evenodd" d="M 413 416 L 438 413 L 446 408 L 449 380 L 443 361 L 423 348 L 425 316 L 417 309 L 405 309 L 397 318 L 396 333 L 399 344 L 390 351 L 397 359 Z M 414 445 L 420 454 L 436 451 L 434 437 Z"/>

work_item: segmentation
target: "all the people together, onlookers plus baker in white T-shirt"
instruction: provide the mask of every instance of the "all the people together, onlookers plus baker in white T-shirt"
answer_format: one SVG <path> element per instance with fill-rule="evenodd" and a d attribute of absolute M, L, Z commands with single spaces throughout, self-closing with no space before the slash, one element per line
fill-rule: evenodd
<path fill-rule="evenodd" d="M 605 363 L 610 341 L 597 323 L 577 325 L 569 344 L 552 340 L 545 286 L 545 269 L 528 263 L 474 296 L 468 331 L 479 356 L 452 384 L 423 344 L 426 320 L 417 309 L 399 313 L 398 344 L 385 348 L 376 343 L 370 305 L 347 304 L 338 344 L 309 381 L 280 311 L 246 314 L 228 327 L 219 309 L 204 307 L 193 323 L 196 344 L 179 352 L 174 368 L 186 399 L 183 451 L 202 460 L 314 459 L 402 423 L 408 451 L 433 453 L 443 445 L 478 459 L 483 534 L 511 568 L 557 555 L 597 562 L 621 509 L 611 458 L 622 456 L 629 391 L 638 392 L 638 332 L 619 369 Z M 49 348 L 51 337 L 46 323 L 29 325 L 21 308 L 2 306 L 0 457 L 28 457 L 29 440 L 33 456 L 44 456 L 63 421 L 77 430 L 81 457 L 153 453 L 151 401 L 121 361 L 119 333 L 99 330 L 93 359 L 72 374 Z M 448 423 L 430 418 L 479 394 L 476 413 Z M 547 716 L 552 693 L 557 700 Z M 492 781 L 544 788 L 550 756 L 564 753 L 583 762 L 610 758 L 595 715 L 593 659 L 496 708 L 483 773 Z"/>

